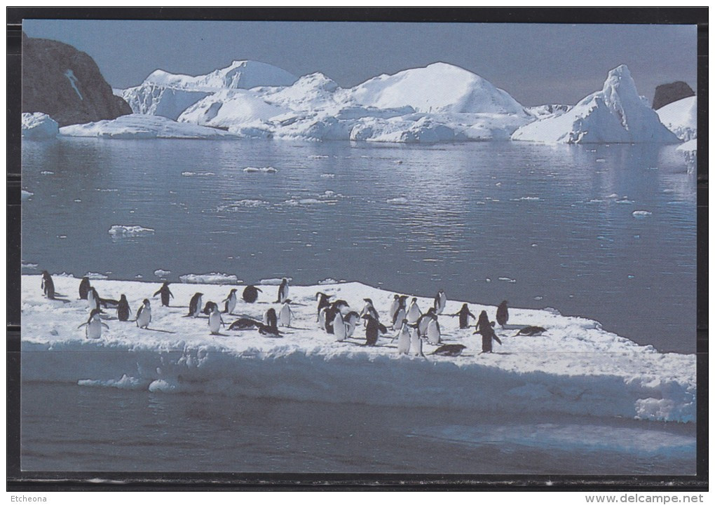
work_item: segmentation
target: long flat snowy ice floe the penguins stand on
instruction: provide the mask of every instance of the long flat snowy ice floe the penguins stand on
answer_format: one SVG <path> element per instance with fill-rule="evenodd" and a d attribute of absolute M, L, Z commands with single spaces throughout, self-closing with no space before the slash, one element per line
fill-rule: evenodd
<path fill-rule="evenodd" d="M 455 317 L 440 316 L 445 343 L 466 346 L 462 356 L 430 354 L 425 342 L 421 356 L 400 356 L 394 332 L 380 337 L 378 346 L 364 344 L 364 329 L 346 341 L 317 329 L 315 293 L 346 300 L 360 311 L 371 298 L 387 319 L 393 292 L 363 284 L 290 286 L 294 317 L 282 338 L 255 330 L 211 335 L 207 318 L 182 317 L 196 292 L 203 301 L 220 303 L 232 285 L 172 284 L 172 306 L 153 298 L 159 282 L 92 281 L 99 295 L 118 299 L 126 294 L 136 311 L 142 299 L 152 301 L 149 330 L 119 322 L 107 311 L 109 329 L 99 339 L 86 339 L 87 301 L 77 299 L 79 279 L 54 277 L 56 289 L 68 303 L 41 294 L 37 275 L 22 277 L 22 374 L 24 380 L 70 381 L 104 386 L 182 394 L 210 392 L 232 398 L 319 400 L 335 403 L 433 406 L 445 409 L 505 412 L 531 411 L 589 416 L 691 422 L 695 420 L 696 365 L 694 355 L 661 354 L 603 331 L 595 321 L 560 316 L 553 311 L 510 309 L 510 329 L 496 328 L 503 345 L 494 354 L 479 354 L 480 339 L 473 329 L 458 329 Z M 242 291 L 238 287 L 239 293 Z M 239 315 L 262 318 L 274 304 L 277 286 L 263 285 L 258 303 L 239 299 L 227 324 Z M 420 297 L 425 310 L 432 299 Z M 448 301 L 445 314 L 463 302 Z M 478 314 L 495 307 L 470 302 Z M 542 336 L 514 336 L 516 328 L 538 325 Z M 154 331 L 152 331 L 154 330 Z"/>

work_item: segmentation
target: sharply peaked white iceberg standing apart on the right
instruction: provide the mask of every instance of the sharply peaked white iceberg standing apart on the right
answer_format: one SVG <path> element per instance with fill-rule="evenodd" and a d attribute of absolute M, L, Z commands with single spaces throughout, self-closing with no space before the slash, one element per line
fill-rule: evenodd
<path fill-rule="evenodd" d="M 626 65 L 608 72 L 603 89 L 586 96 L 573 109 L 522 126 L 511 138 L 544 144 L 679 142 L 638 95 Z"/>

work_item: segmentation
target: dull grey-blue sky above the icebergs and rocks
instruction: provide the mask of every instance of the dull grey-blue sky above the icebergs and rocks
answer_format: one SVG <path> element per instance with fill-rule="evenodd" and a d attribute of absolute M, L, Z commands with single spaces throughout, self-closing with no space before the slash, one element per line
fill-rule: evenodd
<path fill-rule="evenodd" d="M 156 69 L 199 75 L 250 59 L 342 87 L 444 61 L 525 106 L 576 104 L 620 64 L 649 100 L 659 84 L 696 89 L 694 25 L 25 20 L 23 29 L 86 52 L 114 88 Z"/>

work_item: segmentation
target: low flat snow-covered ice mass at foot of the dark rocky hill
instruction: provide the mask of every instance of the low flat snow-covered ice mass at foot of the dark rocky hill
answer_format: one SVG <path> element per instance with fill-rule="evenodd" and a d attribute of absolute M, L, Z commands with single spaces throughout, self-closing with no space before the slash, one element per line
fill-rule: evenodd
<path fill-rule="evenodd" d="M 162 116 L 129 114 L 96 123 L 62 126 L 60 136 L 89 136 L 104 139 L 225 139 L 236 138 L 227 131 L 184 124 Z"/>

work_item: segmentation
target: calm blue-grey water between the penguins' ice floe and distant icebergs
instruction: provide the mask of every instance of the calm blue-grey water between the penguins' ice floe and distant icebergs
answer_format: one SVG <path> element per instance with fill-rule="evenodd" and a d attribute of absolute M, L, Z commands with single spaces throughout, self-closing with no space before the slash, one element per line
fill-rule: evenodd
<path fill-rule="evenodd" d="M 62 139 L 22 159 L 24 271 L 443 288 L 695 349 L 695 176 L 672 146 Z"/>

